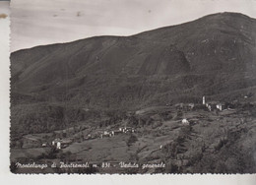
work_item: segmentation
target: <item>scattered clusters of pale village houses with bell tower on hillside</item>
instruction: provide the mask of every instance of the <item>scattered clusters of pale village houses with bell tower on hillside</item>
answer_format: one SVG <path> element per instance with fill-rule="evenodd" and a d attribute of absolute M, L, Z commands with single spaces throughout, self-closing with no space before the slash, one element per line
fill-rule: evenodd
<path fill-rule="evenodd" d="M 233 110 L 232 104 L 218 102 L 218 101 L 207 102 L 206 96 L 203 96 L 202 105 L 203 105 L 203 107 L 205 106 L 209 111 Z M 166 105 L 166 106 L 168 106 L 168 105 Z M 200 106 L 200 105 L 197 105 L 197 106 Z M 195 108 L 195 103 L 178 103 L 175 105 L 175 108 L 177 110 L 191 110 L 192 111 Z M 138 110 L 135 112 L 135 114 L 137 114 L 137 115 L 143 114 L 143 110 Z M 185 126 L 190 125 L 192 122 L 193 122 L 193 120 L 187 119 L 185 115 L 182 115 L 182 118 L 180 119 L 180 123 Z M 136 128 L 127 127 L 126 124 L 123 127 L 119 127 L 118 129 L 96 130 L 95 133 L 91 132 L 90 134 L 88 134 L 86 136 L 83 135 L 83 141 L 111 138 L 111 137 L 114 137 L 117 135 L 132 134 L 132 133 L 136 132 Z M 71 130 L 72 130 L 72 128 L 70 128 L 70 131 Z M 36 139 L 36 137 L 25 136 L 23 144 L 24 144 L 25 148 L 53 147 L 53 148 L 56 148 L 56 150 L 65 149 L 69 145 L 71 145 L 72 143 L 74 143 L 76 141 L 75 138 L 67 137 L 67 132 L 69 132 L 69 129 L 65 129 L 64 131 L 54 132 L 54 134 L 58 137 L 56 137 L 52 141 L 43 141 L 38 138 Z M 26 147 L 26 146 L 28 146 L 28 147 Z M 162 145 L 160 145 L 160 149 L 161 149 L 161 147 L 162 147 Z"/>

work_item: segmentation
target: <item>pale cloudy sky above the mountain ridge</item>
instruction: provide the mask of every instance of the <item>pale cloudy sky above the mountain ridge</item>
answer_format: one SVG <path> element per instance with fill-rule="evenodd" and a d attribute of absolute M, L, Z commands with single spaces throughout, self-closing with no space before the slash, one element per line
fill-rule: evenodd
<path fill-rule="evenodd" d="M 11 51 L 95 35 L 131 35 L 219 12 L 256 18 L 256 0 L 12 0 Z"/>

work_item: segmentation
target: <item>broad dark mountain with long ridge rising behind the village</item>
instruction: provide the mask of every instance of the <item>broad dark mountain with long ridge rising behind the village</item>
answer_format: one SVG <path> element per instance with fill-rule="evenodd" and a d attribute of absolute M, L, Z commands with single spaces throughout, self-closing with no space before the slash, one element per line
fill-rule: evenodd
<path fill-rule="evenodd" d="M 19 50 L 11 54 L 12 121 L 25 119 L 16 112 L 25 116 L 53 104 L 136 110 L 201 102 L 203 95 L 231 101 L 248 93 L 253 101 L 255 40 L 255 19 L 220 13 L 131 36 Z"/>

